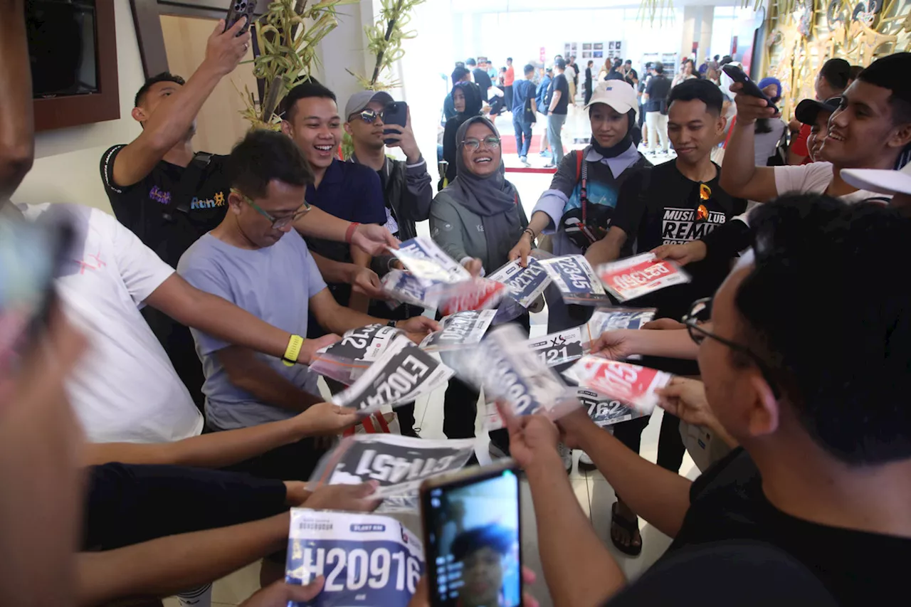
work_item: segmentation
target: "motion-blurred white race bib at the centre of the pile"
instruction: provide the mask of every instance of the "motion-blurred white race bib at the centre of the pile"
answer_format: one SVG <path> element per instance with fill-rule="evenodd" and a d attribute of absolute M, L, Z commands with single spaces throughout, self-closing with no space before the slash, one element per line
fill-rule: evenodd
<path fill-rule="evenodd" d="M 451 353 L 466 381 L 487 399 L 502 398 L 517 416 L 542 413 L 557 419 L 578 406 L 572 390 L 527 346 L 515 324 L 492 329 L 476 350 Z"/>

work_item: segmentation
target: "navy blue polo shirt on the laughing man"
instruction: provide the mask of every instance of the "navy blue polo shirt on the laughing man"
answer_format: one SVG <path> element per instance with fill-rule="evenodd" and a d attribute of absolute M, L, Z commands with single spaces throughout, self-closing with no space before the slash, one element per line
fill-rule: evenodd
<path fill-rule="evenodd" d="M 386 222 L 386 203 L 383 188 L 376 171 L 363 164 L 343 162 L 333 159 L 320 181 L 320 187 L 307 186 L 307 202 L 319 207 L 335 217 L 345 221 L 359 223 Z M 335 262 L 351 263 L 351 245 L 345 242 L 327 241 L 322 238 L 305 239 L 311 252 Z M 351 285 L 347 283 L 327 283 L 335 301 L 348 305 L 351 298 Z M 323 334 L 319 324 L 311 318 L 309 336 Z"/>

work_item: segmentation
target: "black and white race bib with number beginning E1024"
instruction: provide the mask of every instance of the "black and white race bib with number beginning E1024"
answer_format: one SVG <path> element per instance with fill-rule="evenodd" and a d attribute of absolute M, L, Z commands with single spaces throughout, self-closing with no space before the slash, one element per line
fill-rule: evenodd
<path fill-rule="evenodd" d="M 397 335 L 351 386 L 333 396 L 333 403 L 373 413 L 381 406 L 410 403 L 416 396 L 442 386 L 451 376 L 452 369 Z"/>

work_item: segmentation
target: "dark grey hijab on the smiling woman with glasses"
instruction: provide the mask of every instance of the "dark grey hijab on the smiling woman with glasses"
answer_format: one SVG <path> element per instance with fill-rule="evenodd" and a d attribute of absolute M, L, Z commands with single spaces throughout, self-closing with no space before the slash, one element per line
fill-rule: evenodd
<path fill-rule="evenodd" d="M 509 251 L 516 243 L 522 229 L 527 226 L 524 212 L 518 204 L 516 188 L 506 180 L 502 153 L 499 170 L 480 177 L 471 172 L 462 155 L 463 142 L 468 128 L 480 122 L 499 137 L 494 123 L 483 116 L 467 118 L 455 134 L 457 153 L 455 164 L 458 176 L 445 190 L 453 201 L 481 217 L 484 239 L 487 243 L 487 261 L 499 267 L 508 261 Z M 493 270 L 494 268 L 488 268 Z"/>

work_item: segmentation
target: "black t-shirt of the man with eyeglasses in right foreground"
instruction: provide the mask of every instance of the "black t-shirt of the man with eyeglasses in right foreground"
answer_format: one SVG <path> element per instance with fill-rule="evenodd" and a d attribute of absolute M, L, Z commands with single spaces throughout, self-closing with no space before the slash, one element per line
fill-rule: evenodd
<path fill-rule="evenodd" d="M 783 550 L 842 605 L 892 604 L 907 592 L 911 539 L 785 514 L 765 498 L 759 470 L 740 448 L 693 481 L 690 509 L 662 561 L 683 547 L 723 540 L 757 540 Z"/>

